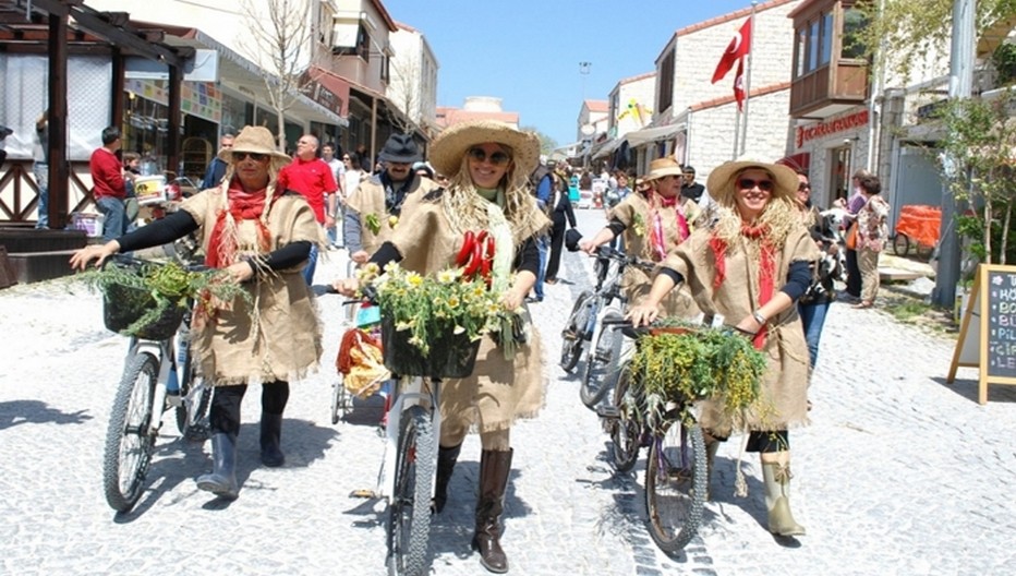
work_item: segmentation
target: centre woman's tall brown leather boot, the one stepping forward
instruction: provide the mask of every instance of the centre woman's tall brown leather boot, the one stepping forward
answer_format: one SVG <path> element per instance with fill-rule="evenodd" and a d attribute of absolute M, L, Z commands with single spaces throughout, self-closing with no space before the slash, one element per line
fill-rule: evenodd
<path fill-rule="evenodd" d="M 495 574 L 508 572 L 508 556 L 501 550 L 499 520 L 505 511 L 512 453 L 483 451 L 480 456 L 480 497 L 476 501 L 476 531 L 472 547 L 480 551 L 483 567 Z"/>

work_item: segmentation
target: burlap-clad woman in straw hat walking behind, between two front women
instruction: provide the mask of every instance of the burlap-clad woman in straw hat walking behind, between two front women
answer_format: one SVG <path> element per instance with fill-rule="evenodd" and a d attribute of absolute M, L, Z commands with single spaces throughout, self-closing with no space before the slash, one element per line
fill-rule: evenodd
<path fill-rule="evenodd" d="M 650 163 L 650 172 L 641 179 L 641 183 L 649 185 L 628 194 L 613 208 L 607 226 L 592 239 L 579 242 L 579 248 L 592 254 L 604 242 L 624 235 L 629 255 L 662 262 L 691 235 L 698 221 L 696 203 L 680 195 L 680 178 L 681 167 L 673 158 Z M 636 266 L 625 268 L 622 289 L 629 302 L 640 302 L 651 285 L 652 278 L 645 271 Z M 687 317 L 699 312 L 687 289 L 667 295 L 663 307 L 667 315 Z"/>

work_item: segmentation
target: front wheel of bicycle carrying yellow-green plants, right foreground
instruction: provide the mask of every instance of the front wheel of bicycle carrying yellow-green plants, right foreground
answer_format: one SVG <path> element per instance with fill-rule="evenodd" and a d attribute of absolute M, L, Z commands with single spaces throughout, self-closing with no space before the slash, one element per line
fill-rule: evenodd
<path fill-rule="evenodd" d="M 685 548 L 699 530 L 705 466 L 705 441 L 698 424 L 673 422 L 653 439 L 645 464 L 645 509 L 649 533 L 667 554 Z"/>

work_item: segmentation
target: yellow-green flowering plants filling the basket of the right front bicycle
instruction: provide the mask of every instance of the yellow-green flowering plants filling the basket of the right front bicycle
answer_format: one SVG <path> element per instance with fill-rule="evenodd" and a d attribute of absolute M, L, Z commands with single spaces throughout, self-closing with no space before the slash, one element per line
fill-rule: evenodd
<path fill-rule="evenodd" d="M 661 332 L 643 336 L 631 360 L 651 423 L 668 418 L 668 403 L 684 410 L 696 400 L 711 399 L 735 416 L 759 400 L 765 355 L 743 335 L 675 322 L 654 327 Z"/>

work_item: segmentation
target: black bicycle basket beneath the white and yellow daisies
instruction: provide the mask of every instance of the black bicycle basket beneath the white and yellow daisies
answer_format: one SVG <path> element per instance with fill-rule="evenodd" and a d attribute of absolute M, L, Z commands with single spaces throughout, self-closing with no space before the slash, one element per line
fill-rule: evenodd
<path fill-rule="evenodd" d="M 424 355 L 409 341 L 410 331 L 395 329 L 395 320 L 382 312 L 385 368 L 404 376 L 461 379 L 471 375 L 476 364 L 480 340 L 471 341 L 465 334 L 452 334 L 451 329 L 439 334 L 439 338 L 430 343 L 430 353 Z"/>

